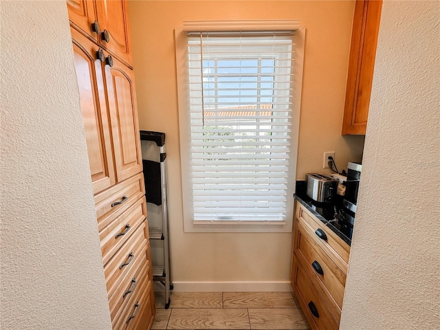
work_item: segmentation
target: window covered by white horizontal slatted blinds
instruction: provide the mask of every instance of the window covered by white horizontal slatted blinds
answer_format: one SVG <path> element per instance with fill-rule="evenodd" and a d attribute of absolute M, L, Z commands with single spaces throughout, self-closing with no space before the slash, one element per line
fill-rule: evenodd
<path fill-rule="evenodd" d="M 178 79 L 185 230 L 291 231 L 296 32 L 180 36 L 186 41 L 185 77 Z"/>

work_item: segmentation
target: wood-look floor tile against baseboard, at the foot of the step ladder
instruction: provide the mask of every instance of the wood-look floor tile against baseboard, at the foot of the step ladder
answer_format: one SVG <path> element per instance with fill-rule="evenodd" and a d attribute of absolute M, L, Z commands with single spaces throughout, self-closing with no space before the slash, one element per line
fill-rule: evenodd
<path fill-rule="evenodd" d="M 170 308 L 221 308 L 221 292 L 173 292 Z"/>

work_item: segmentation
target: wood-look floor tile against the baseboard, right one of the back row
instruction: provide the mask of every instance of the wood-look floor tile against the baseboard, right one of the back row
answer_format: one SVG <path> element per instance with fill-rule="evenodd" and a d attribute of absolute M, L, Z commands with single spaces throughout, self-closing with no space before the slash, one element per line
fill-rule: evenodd
<path fill-rule="evenodd" d="M 223 292 L 224 308 L 292 308 L 290 292 Z"/>

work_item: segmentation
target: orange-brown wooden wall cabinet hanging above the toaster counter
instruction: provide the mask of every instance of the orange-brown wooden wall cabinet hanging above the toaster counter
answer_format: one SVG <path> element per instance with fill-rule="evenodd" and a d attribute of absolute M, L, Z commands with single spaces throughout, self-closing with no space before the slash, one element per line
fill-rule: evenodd
<path fill-rule="evenodd" d="M 342 135 L 365 134 L 382 0 L 357 0 L 353 17 Z"/>

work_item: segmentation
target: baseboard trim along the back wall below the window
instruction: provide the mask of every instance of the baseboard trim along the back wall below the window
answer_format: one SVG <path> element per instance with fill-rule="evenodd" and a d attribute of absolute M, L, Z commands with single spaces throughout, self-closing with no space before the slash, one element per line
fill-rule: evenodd
<path fill-rule="evenodd" d="M 292 292 L 288 281 L 280 282 L 184 282 L 173 281 L 175 292 Z"/>

